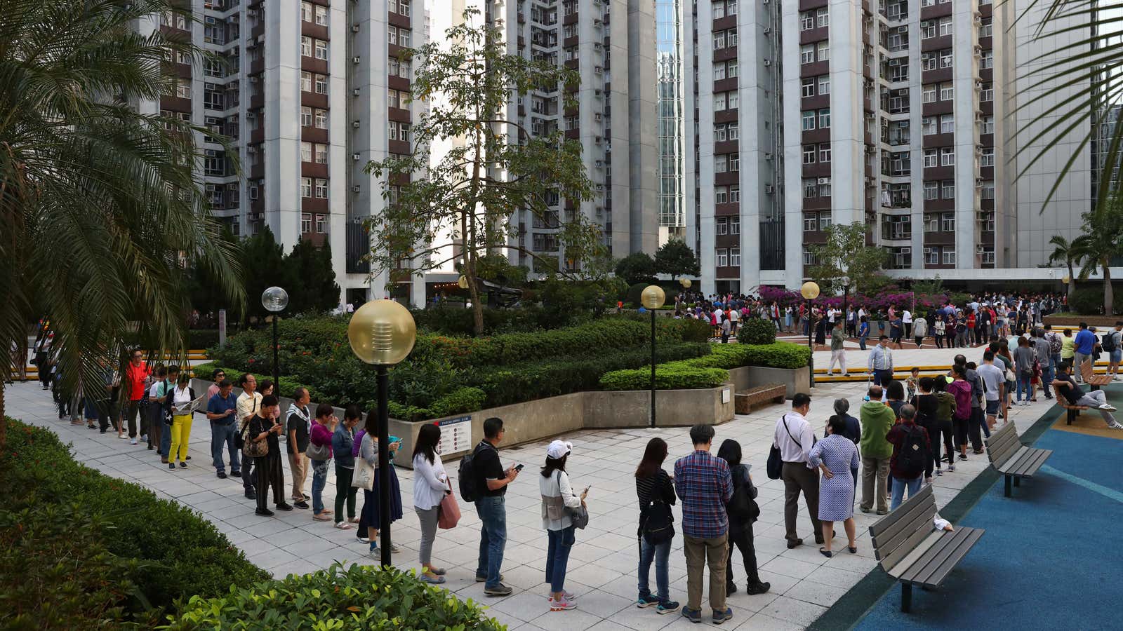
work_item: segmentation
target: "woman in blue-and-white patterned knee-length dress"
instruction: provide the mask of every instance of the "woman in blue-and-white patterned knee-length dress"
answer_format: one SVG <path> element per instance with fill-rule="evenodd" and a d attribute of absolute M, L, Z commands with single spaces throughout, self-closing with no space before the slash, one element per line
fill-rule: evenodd
<path fill-rule="evenodd" d="M 834 539 L 834 522 L 841 521 L 846 528 L 847 548 L 850 554 L 858 551 L 855 541 L 853 493 L 855 482 L 850 469 L 858 467 L 858 448 L 843 436 L 846 418 L 834 414 L 827 426 L 828 436 L 811 448 L 809 461 L 822 470 L 819 485 L 819 521 L 822 524 L 824 547 L 819 551 L 830 558 Z M 847 484 L 847 483 L 850 484 Z"/>

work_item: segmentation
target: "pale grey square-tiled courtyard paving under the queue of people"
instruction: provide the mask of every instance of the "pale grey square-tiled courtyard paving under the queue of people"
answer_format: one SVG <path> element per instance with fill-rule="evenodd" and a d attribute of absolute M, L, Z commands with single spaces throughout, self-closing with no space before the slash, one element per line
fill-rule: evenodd
<path fill-rule="evenodd" d="M 977 354 L 976 350 L 970 355 Z M 935 359 L 925 357 L 925 363 L 933 363 Z M 848 397 L 851 412 L 857 412 L 864 394 L 865 384 L 861 383 L 823 384 L 814 388 L 810 419 L 816 431 L 821 433 L 825 427 L 836 397 Z M 190 468 L 170 472 L 165 465 L 161 465 L 155 452 L 148 451 L 144 445 L 130 446 L 127 440 L 118 439 L 112 431 L 102 435 L 84 426 L 60 421 L 49 393 L 40 390 L 37 383 L 8 386 L 6 396 L 9 415 L 51 428 L 64 441 L 72 442 L 75 457 L 89 466 L 141 484 L 159 496 L 173 499 L 199 511 L 243 549 L 249 560 L 275 576 L 307 573 L 327 567 L 334 560 L 376 563 L 366 556 L 367 546 L 355 540 L 354 530 L 337 530 L 330 522 L 312 521 L 310 511 L 279 512 L 275 518 L 254 515 L 254 503 L 243 496 L 240 481 L 218 479 L 214 476 L 209 455 L 210 428 L 203 417 L 195 417 L 192 427 L 190 452 L 194 458 Z M 1032 424 L 1050 403 L 1039 397 L 1039 403 L 1031 406 L 1013 408 L 1012 417 L 1019 431 L 1024 431 Z M 772 405 L 749 415 L 738 415 L 716 428 L 715 448 L 725 438 L 737 439 L 742 445 L 746 461 L 752 465 L 754 482 L 760 488 L 758 502 L 761 509 L 760 520 L 755 525 L 757 563 L 761 579 L 772 583 L 772 589 L 767 594 L 748 596 L 739 591 L 731 596 L 729 606 L 733 610 L 733 619 L 725 623 L 725 629 L 803 629 L 866 573 L 874 569 L 877 563 L 867 533 L 867 527 L 875 515 L 857 511 L 855 518 L 860 534 L 857 555 L 837 555 L 831 559 L 821 556 L 814 546 L 814 536 L 802 503 L 798 531 L 809 543 L 794 550 L 786 548 L 783 484 L 769 481 L 764 475 L 773 427 L 786 409 L 786 405 Z M 438 531 L 433 548 L 433 564 L 448 569 L 448 583 L 445 586 L 459 597 L 489 605 L 489 613 L 506 623 L 512 631 L 652 631 L 686 628 L 687 621 L 678 614 L 657 615 L 654 610 L 639 610 L 634 606 L 638 560 L 636 528 L 639 509 L 632 473 L 648 439 L 655 436 L 667 440 L 670 447 L 665 464 L 667 469 L 673 468 L 675 458 L 691 450 L 685 428 L 578 431 L 562 436 L 574 445 L 568 470 L 575 485 L 593 485 L 588 494 L 590 525 L 577 533 L 566 579 L 566 588 L 578 596 L 578 610 L 551 613 L 546 603 L 548 588 L 544 583 L 544 574 L 547 538 L 541 527 L 540 496 L 535 477 L 545 460 L 546 441 L 501 449 L 504 465 L 527 465 L 527 469 L 510 486 L 506 495 L 509 541 L 503 573 L 505 583 L 514 588 L 514 593 L 503 598 L 486 597 L 483 584 L 474 582 L 480 520 L 474 506 L 463 502 L 464 516 L 460 524 L 453 530 Z M 943 505 L 955 497 L 985 465 L 985 456 L 973 456 L 961 463 L 956 473 L 937 477 L 937 502 Z M 287 481 L 287 463 L 285 468 Z M 446 468 L 455 477 L 456 463 L 446 463 Z M 412 472 L 400 468 L 398 474 L 401 478 L 405 515 L 393 528 L 393 539 L 402 550 L 394 556 L 394 563 L 402 568 L 412 568 L 417 567 L 417 547 L 420 541 L 418 520 L 411 507 Z M 311 481 L 308 482 L 308 493 L 310 487 Z M 332 473 L 325 491 L 326 504 L 330 506 L 334 497 Z M 360 493 L 360 505 L 362 501 Z M 841 524 L 837 530 L 841 536 Z M 844 536 L 836 545 L 844 546 Z M 745 571 L 739 555 L 734 555 L 732 567 L 737 583 L 743 591 Z M 678 536 L 670 556 L 670 589 L 672 597 L 684 603 L 685 573 L 682 538 Z M 654 576 L 651 579 L 654 586 Z M 703 605 L 703 614 L 710 615 L 706 605 Z"/>

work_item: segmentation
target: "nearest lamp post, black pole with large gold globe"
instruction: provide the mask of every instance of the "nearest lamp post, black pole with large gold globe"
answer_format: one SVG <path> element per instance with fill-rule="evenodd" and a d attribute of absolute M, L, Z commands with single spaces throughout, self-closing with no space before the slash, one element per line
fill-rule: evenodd
<path fill-rule="evenodd" d="M 409 310 L 392 300 L 373 300 L 351 316 L 347 339 L 356 357 L 378 371 L 378 531 L 382 533 L 382 566 L 390 567 L 390 366 L 413 350 L 417 324 Z"/>

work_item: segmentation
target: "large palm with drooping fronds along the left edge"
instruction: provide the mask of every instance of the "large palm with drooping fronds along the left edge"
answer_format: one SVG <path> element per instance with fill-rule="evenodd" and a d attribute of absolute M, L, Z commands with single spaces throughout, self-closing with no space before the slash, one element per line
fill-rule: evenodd
<path fill-rule="evenodd" d="M 133 335 L 185 350 L 181 260 L 244 300 L 193 177 L 202 129 L 131 107 L 167 92 L 165 58 L 202 58 L 186 38 L 135 28 L 175 11 L 166 0 L 0 0 L 0 346 L 26 344 L 46 313 L 67 386 L 101 383 L 99 367 Z M 4 437 L 0 385 L 0 449 Z"/>

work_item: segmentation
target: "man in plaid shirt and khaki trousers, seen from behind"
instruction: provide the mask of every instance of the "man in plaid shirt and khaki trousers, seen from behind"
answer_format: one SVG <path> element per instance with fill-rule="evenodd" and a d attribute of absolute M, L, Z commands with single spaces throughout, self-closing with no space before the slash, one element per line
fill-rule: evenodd
<path fill-rule="evenodd" d="M 800 395 L 796 394 L 796 397 Z M 807 428 L 810 431 L 810 427 Z M 710 454 L 713 427 L 691 428 L 694 451 L 675 461 L 675 491 L 683 501 L 683 551 L 686 554 L 686 606 L 683 616 L 702 621 L 702 570 L 710 567 L 710 607 L 713 623 L 733 618 L 725 606 L 725 559 L 729 518 L 725 505 L 733 497 L 729 464 Z"/>

